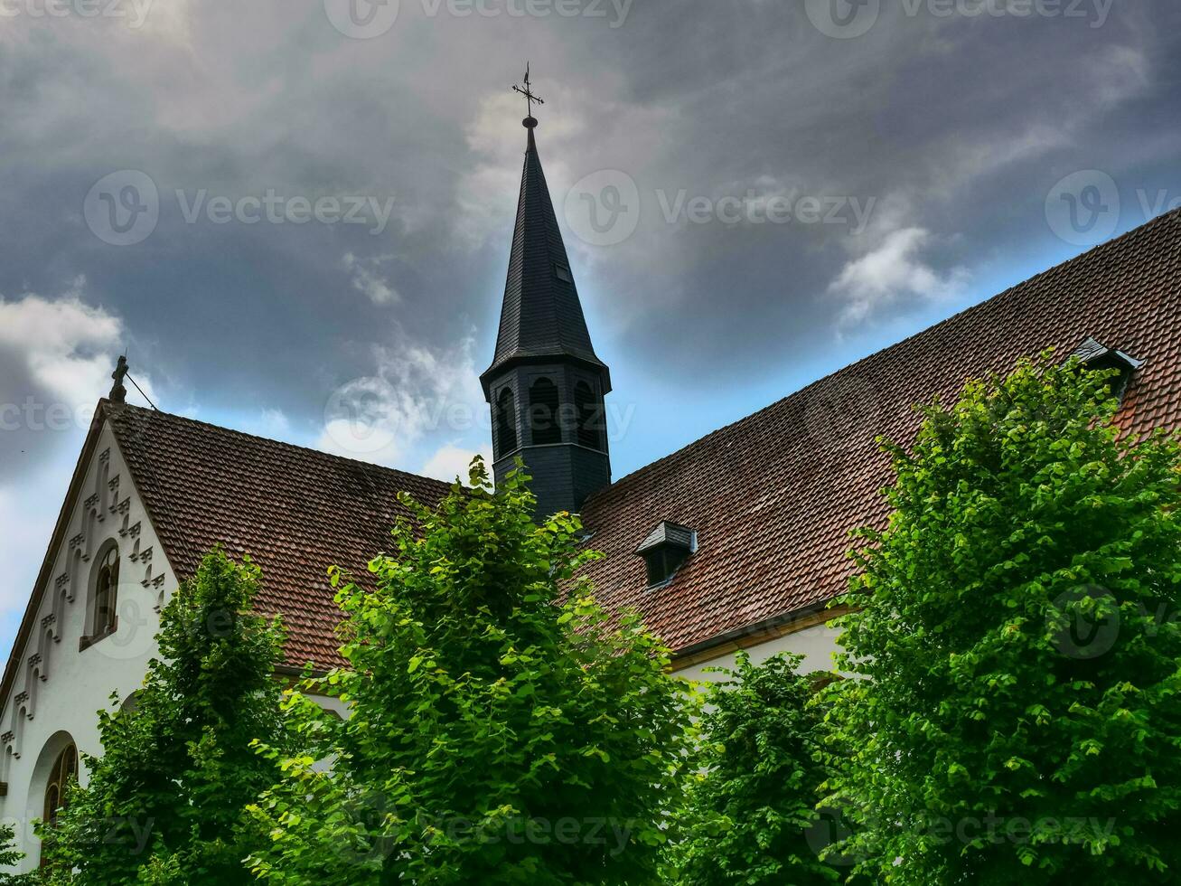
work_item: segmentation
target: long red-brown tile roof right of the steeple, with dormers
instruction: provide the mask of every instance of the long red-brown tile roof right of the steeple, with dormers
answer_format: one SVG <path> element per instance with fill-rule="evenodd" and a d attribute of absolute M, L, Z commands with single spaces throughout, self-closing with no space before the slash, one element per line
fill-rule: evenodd
<path fill-rule="evenodd" d="M 850 529 L 886 519 L 876 435 L 907 442 L 912 404 L 954 396 L 1088 335 L 1144 360 L 1117 421 L 1181 426 L 1181 213 L 1095 248 L 723 428 L 595 494 L 583 507 L 606 553 L 600 600 L 631 605 L 679 652 L 807 611 L 841 593 Z M 661 520 L 697 530 L 671 584 L 646 591 L 633 552 Z"/>

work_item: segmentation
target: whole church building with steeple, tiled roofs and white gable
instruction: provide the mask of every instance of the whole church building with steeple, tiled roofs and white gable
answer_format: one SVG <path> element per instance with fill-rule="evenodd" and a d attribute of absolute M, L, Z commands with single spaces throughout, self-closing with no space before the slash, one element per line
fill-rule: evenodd
<path fill-rule="evenodd" d="M 1181 213 L 1014 286 L 612 480 L 595 354 L 530 116 L 495 350 L 481 376 L 497 478 L 524 460 L 541 515 L 579 512 L 606 556 L 587 572 L 608 607 L 640 610 L 686 677 L 737 650 L 828 669 L 830 601 L 849 530 L 881 526 L 888 460 L 912 405 L 1056 348 L 1123 372 L 1128 431 L 1181 425 Z M 489 343 L 491 345 L 491 343 Z M 52 820 L 96 711 L 135 703 L 159 611 L 215 545 L 262 568 L 282 613 L 285 675 L 339 663 L 329 565 L 364 574 L 404 513 L 448 484 L 125 403 L 125 366 L 98 404 L 0 683 L 0 817 L 35 867 L 32 821 Z M 325 704 L 333 704 L 325 699 Z M 85 773 L 80 774 L 85 778 Z"/>

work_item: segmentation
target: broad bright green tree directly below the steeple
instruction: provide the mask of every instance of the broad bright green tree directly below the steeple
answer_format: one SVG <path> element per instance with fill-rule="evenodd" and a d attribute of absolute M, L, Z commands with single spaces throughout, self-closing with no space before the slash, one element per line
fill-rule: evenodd
<path fill-rule="evenodd" d="M 692 696 L 637 615 L 595 605 L 578 519 L 537 526 L 526 480 L 494 491 L 477 460 L 438 507 L 404 496 L 415 521 L 374 586 L 341 584 L 348 666 L 308 689 L 350 716 L 292 696 L 306 749 L 272 751 L 287 778 L 256 808 L 274 839 L 260 877 L 655 881 Z"/>

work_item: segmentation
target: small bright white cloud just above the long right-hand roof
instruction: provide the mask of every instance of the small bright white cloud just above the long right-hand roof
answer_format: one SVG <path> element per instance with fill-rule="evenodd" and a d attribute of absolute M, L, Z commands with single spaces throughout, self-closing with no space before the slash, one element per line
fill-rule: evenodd
<path fill-rule="evenodd" d="M 964 268 L 940 274 L 921 256 L 933 236 L 926 228 L 899 228 L 879 245 L 852 259 L 829 284 L 829 293 L 846 302 L 841 320 L 855 323 L 900 298 L 950 299 L 967 281 Z"/>

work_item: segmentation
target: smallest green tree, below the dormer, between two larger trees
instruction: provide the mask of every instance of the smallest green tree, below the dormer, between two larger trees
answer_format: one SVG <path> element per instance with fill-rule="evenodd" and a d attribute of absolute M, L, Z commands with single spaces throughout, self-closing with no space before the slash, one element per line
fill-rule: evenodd
<path fill-rule="evenodd" d="M 836 882 L 818 858 L 826 839 L 816 803 L 826 777 L 824 717 L 801 656 L 753 665 L 738 653 L 729 679 L 706 690 L 697 775 L 670 848 L 684 886 L 814 886 Z"/>

